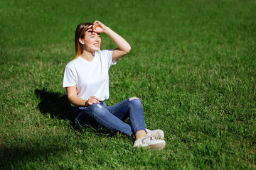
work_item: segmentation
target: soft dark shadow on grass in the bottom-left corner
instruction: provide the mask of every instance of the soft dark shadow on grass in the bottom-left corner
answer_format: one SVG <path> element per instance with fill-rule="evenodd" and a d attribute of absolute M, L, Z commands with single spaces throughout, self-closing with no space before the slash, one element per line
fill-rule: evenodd
<path fill-rule="evenodd" d="M 16 142 L 0 147 L 0 169 L 37 169 L 34 165 L 61 159 L 69 152 L 68 144 L 62 136 L 44 136 L 24 139 L 16 137 Z"/>

